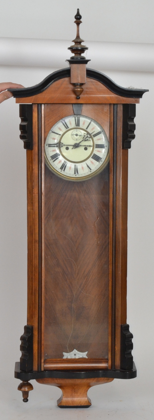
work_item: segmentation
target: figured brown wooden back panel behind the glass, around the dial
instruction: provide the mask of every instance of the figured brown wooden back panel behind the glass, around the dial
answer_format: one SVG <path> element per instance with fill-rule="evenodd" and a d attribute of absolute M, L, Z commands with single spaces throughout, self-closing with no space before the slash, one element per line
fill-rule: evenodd
<path fill-rule="evenodd" d="M 44 112 L 46 138 L 56 121 L 72 114 L 72 105 L 45 105 Z M 82 114 L 109 135 L 108 105 L 84 105 Z M 44 357 L 61 358 L 76 348 L 108 359 L 109 165 L 80 183 L 58 178 L 45 165 L 44 209 Z"/>

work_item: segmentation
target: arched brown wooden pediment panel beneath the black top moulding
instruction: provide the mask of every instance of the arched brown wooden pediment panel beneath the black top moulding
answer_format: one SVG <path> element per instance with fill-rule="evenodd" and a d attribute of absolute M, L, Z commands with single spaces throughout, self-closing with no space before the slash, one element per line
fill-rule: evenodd
<path fill-rule="evenodd" d="M 26 98 L 16 98 L 16 103 L 139 103 L 137 98 L 126 98 L 111 92 L 98 80 L 87 77 L 80 99 L 76 99 L 70 78 L 59 79 L 51 84 L 44 92 Z"/>

